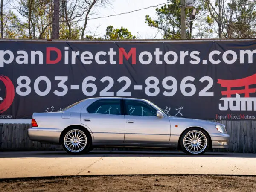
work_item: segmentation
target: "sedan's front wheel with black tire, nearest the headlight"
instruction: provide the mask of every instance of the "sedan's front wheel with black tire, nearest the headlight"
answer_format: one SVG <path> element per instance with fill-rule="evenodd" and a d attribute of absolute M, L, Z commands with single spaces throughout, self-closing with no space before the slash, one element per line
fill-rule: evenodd
<path fill-rule="evenodd" d="M 193 155 L 204 154 L 209 148 L 209 143 L 208 135 L 199 128 L 188 129 L 180 140 L 182 151 Z"/>

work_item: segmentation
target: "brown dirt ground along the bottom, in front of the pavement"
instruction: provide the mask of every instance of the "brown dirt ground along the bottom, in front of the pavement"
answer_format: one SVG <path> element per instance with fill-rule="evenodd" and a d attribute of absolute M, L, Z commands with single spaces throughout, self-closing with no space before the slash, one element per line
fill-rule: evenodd
<path fill-rule="evenodd" d="M 88 176 L 0 181 L 0 191 L 256 191 L 256 177 L 246 176 Z"/>

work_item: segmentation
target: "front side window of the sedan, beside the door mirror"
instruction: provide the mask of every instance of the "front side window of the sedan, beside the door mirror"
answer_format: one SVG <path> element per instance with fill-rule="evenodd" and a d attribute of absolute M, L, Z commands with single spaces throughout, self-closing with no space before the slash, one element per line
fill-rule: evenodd
<path fill-rule="evenodd" d="M 125 100 L 126 115 L 157 116 L 157 110 L 145 102 Z"/>

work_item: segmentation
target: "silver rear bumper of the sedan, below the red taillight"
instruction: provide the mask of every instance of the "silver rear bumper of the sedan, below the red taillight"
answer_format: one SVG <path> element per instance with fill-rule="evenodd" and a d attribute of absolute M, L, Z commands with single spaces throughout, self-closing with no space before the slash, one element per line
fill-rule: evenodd
<path fill-rule="evenodd" d="M 32 141 L 39 141 L 41 143 L 59 144 L 61 131 L 55 128 L 37 128 L 32 127 L 28 129 L 29 139 Z"/>

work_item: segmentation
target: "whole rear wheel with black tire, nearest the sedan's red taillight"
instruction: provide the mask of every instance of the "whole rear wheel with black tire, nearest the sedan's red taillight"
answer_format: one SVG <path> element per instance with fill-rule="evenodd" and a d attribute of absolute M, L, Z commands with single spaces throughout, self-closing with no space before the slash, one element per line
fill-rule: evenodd
<path fill-rule="evenodd" d="M 75 134 L 77 134 L 77 137 L 72 137 L 72 134 L 74 136 Z M 70 139 L 71 137 L 73 139 Z M 80 137 L 80 139 L 78 137 Z M 65 130 L 65 132 L 62 134 L 61 144 L 63 149 L 68 154 L 73 155 L 87 154 L 92 150 L 92 140 L 90 137 L 90 133 L 85 128 L 81 127 L 72 127 Z M 73 146 L 73 150 L 71 146 Z M 76 150 L 77 148 L 80 149 Z"/>

